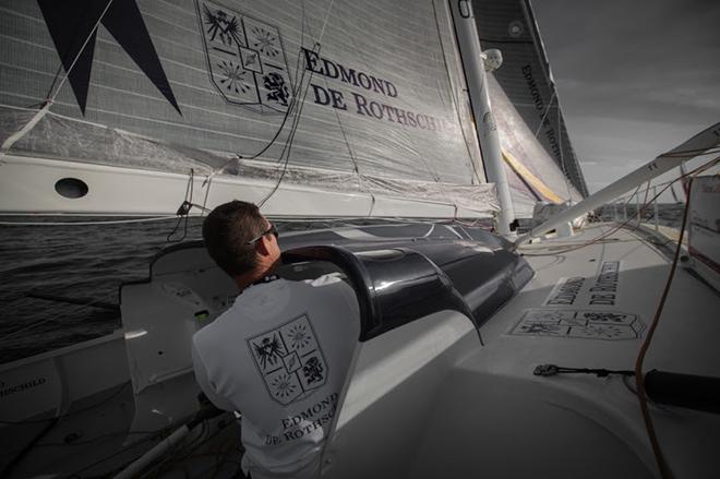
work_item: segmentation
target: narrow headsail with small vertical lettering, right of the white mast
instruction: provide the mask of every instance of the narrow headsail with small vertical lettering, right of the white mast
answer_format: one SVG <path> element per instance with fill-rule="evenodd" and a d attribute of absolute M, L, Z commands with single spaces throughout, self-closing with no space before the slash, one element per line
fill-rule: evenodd
<path fill-rule="evenodd" d="M 492 74 L 496 84 L 491 82 L 491 95 L 499 123 L 504 123 L 504 146 L 554 195 L 575 201 L 587 196 L 529 1 L 473 0 L 472 5 L 483 49 L 503 52 L 503 67 Z M 517 146 L 516 152 L 523 151 L 513 152 Z M 516 204 L 555 201 L 517 170 L 508 177 Z"/>

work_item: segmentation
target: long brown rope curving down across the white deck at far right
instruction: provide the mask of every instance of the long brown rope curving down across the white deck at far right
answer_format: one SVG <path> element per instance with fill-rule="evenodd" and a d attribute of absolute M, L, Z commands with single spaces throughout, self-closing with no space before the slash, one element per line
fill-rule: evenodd
<path fill-rule="evenodd" d="M 688 193 L 693 187 L 693 178 L 694 177 L 691 176 L 689 181 L 687 183 Z M 660 476 L 662 476 L 663 479 L 670 479 L 673 476 L 662 454 L 662 448 L 660 447 L 660 443 L 658 442 L 658 436 L 655 430 L 655 426 L 652 423 L 652 417 L 650 416 L 650 410 L 648 408 L 647 395 L 645 391 L 645 381 L 643 376 L 643 362 L 645 361 L 645 356 L 647 355 L 647 351 L 650 347 L 650 343 L 652 342 L 652 336 L 655 335 L 655 331 L 657 330 L 658 323 L 660 322 L 660 315 L 662 314 L 662 310 L 665 306 L 665 300 L 668 299 L 668 294 L 670 292 L 670 286 L 672 285 L 672 280 L 675 276 L 677 260 L 680 259 L 680 253 L 682 251 L 683 235 L 685 232 L 685 225 L 687 224 L 688 211 L 689 211 L 689 194 L 687 195 L 687 202 L 685 203 L 685 209 L 683 212 L 683 224 L 680 228 L 677 247 L 675 248 L 675 255 L 673 258 L 672 265 L 670 266 L 668 280 L 665 282 L 665 287 L 662 291 L 662 296 L 660 297 L 660 302 L 658 303 L 658 308 L 656 310 L 655 318 L 652 319 L 652 323 L 650 324 L 650 328 L 648 330 L 648 333 L 645 336 L 645 340 L 643 342 L 643 346 L 640 347 L 640 350 L 637 355 L 637 359 L 635 361 L 635 386 L 637 388 L 637 398 L 640 404 L 640 410 L 643 411 L 643 420 L 645 421 L 645 429 L 648 433 L 648 439 L 650 440 L 650 444 L 652 446 L 652 453 L 655 454 L 655 458 L 658 462 Z"/>

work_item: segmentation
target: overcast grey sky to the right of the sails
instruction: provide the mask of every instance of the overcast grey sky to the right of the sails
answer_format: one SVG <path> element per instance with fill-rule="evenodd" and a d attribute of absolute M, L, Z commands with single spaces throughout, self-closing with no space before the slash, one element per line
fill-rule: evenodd
<path fill-rule="evenodd" d="M 532 7 L 591 192 L 720 121 L 720 1 Z"/>

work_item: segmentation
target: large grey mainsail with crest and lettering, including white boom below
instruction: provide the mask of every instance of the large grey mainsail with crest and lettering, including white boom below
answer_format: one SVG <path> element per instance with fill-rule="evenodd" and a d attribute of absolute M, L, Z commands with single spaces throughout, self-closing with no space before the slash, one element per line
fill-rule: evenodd
<path fill-rule="evenodd" d="M 2 3 L 4 212 L 175 213 L 192 191 L 285 215 L 497 207 L 446 2 Z"/>

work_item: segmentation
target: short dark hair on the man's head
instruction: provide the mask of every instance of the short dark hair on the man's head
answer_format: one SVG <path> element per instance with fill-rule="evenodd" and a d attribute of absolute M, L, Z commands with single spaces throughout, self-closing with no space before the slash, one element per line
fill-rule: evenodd
<path fill-rule="evenodd" d="M 267 229 L 257 205 L 233 200 L 211 212 L 203 223 L 205 248 L 215 263 L 235 277 L 255 268 L 255 244 L 248 241 Z"/>

